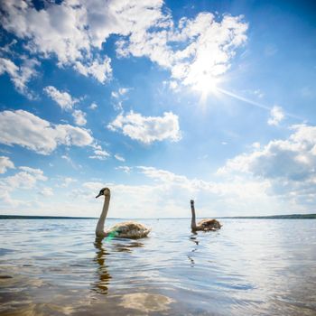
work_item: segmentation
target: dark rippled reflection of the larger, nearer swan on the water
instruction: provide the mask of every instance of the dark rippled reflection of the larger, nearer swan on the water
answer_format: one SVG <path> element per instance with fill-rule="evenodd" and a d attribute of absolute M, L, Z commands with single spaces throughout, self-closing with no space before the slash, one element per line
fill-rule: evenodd
<path fill-rule="evenodd" d="M 119 242 L 117 242 L 119 241 Z M 126 242 L 125 242 L 126 241 Z M 96 248 L 96 256 L 93 258 L 93 261 L 98 265 L 97 269 L 97 280 L 95 283 L 92 283 L 92 291 L 98 294 L 107 294 L 108 285 L 112 279 L 111 274 L 108 273 L 107 268 L 107 256 L 110 256 L 111 253 L 106 250 L 104 245 L 105 239 L 96 238 L 94 246 Z M 131 253 L 133 248 L 144 246 L 143 243 L 138 241 L 131 241 L 130 239 L 112 239 L 111 250 L 114 252 L 128 252 Z"/>

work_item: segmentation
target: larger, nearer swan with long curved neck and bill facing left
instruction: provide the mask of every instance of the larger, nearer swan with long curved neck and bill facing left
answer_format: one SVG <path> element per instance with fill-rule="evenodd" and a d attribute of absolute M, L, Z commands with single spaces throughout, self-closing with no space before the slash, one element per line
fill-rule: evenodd
<path fill-rule="evenodd" d="M 111 192 L 108 188 L 100 190 L 96 198 L 104 195 L 104 204 L 98 224 L 96 228 L 96 236 L 103 238 L 107 236 L 122 237 L 122 238 L 143 238 L 146 237 L 150 229 L 144 227 L 144 225 L 135 223 L 133 221 L 127 221 L 124 223 L 116 224 L 113 228 L 104 230 L 104 223 L 107 218 L 108 205 L 110 202 Z"/>

